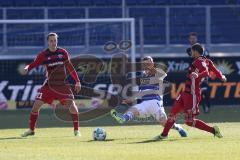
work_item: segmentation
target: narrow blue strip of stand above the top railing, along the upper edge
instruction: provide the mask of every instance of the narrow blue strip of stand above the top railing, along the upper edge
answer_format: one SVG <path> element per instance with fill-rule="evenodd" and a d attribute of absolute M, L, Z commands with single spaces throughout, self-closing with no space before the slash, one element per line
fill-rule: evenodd
<path fill-rule="evenodd" d="M 239 0 L 126 0 L 127 6 L 154 5 L 234 5 Z M 121 6 L 121 0 L 0 0 L 2 7 L 23 6 Z"/>

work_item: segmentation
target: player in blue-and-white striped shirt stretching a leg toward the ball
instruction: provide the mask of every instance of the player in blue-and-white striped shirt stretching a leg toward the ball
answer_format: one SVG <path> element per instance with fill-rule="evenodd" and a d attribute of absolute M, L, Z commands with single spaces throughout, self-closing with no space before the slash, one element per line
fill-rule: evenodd
<path fill-rule="evenodd" d="M 142 59 L 143 64 L 143 76 L 141 77 L 141 84 L 139 86 L 140 95 L 142 94 L 142 102 L 130 107 L 125 114 L 117 113 L 115 109 L 111 110 L 111 115 L 119 123 L 125 123 L 131 121 L 134 117 L 147 118 L 153 116 L 162 126 L 167 121 L 167 115 L 163 108 L 163 96 L 160 90 L 162 90 L 163 79 L 167 74 L 154 67 L 152 57 L 147 56 Z M 139 99 L 139 96 L 136 97 Z M 131 103 L 132 99 L 123 100 L 123 103 Z M 187 137 L 186 131 L 181 125 L 174 123 L 173 129 L 177 130 L 182 137 Z"/>

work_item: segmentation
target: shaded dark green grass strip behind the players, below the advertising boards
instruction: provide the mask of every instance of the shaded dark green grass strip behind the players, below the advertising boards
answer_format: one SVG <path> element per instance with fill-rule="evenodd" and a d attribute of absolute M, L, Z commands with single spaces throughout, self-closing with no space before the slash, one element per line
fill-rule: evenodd
<path fill-rule="evenodd" d="M 169 113 L 170 107 L 166 107 L 166 113 Z M 201 108 L 200 108 L 201 109 Z M 0 111 L 0 129 L 26 128 L 28 127 L 30 110 L 5 110 Z M 214 106 L 209 114 L 201 113 L 198 118 L 208 123 L 219 122 L 240 122 L 239 106 Z M 180 115 L 178 122 L 183 123 L 183 115 Z M 130 123 L 136 124 L 136 123 Z M 127 124 L 127 125 L 130 125 Z M 145 123 L 153 124 L 153 123 Z M 80 122 L 81 126 L 115 126 L 119 125 L 109 114 L 100 118 Z M 38 128 L 48 127 L 71 127 L 72 122 L 63 122 L 57 119 L 53 114 L 53 109 L 42 109 L 38 120 Z"/>

